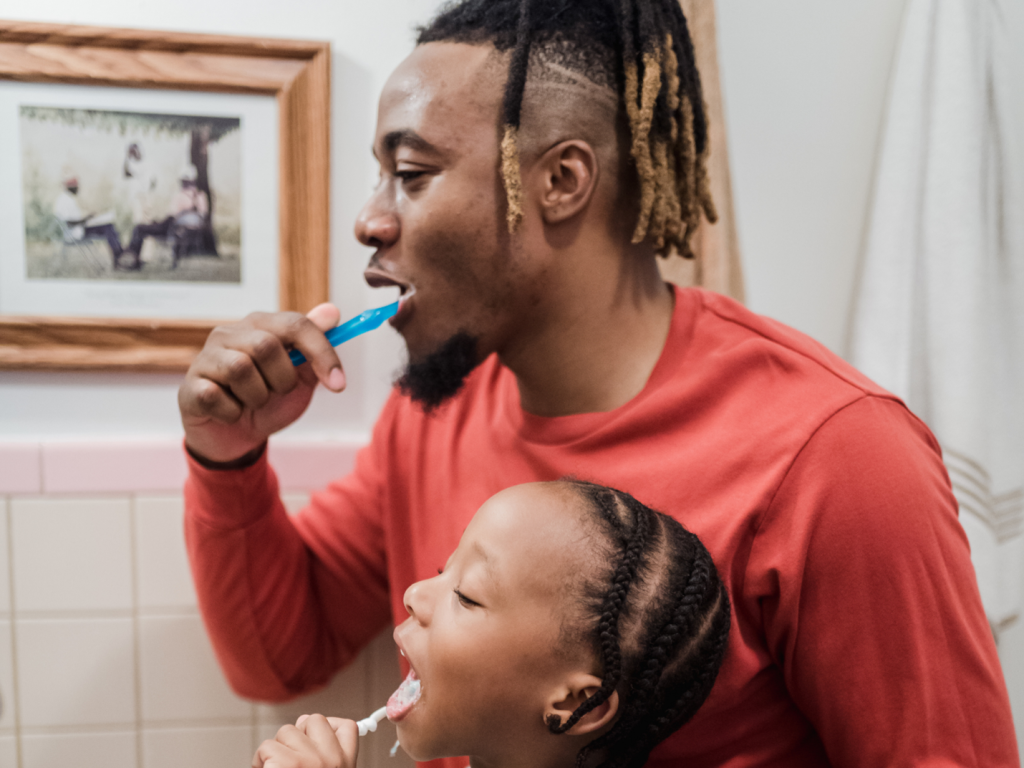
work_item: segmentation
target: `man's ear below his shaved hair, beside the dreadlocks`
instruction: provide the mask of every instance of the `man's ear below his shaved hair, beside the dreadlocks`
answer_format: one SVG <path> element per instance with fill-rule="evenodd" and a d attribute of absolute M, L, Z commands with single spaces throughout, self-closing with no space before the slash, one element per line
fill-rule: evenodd
<path fill-rule="evenodd" d="M 587 207 L 597 188 L 597 154 L 586 141 L 561 141 L 535 165 L 538 173 L 541 215 L 547 224 L 558 224 Z"/>

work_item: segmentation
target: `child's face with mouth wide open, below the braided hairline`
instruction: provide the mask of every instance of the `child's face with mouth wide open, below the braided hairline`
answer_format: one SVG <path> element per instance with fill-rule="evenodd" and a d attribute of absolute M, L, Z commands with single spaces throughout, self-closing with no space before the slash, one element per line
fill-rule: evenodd
<path fill-rule="evenodd" d="M 406 592 L 410 617 L 395 641 L 422 694 L 397 727 L 413 758 L 506 762 L 559 738 L 544 722 L 546 702 L 567 673 L 597 673 L 592 653 L 560 648 L 593 551 L 580 509 L 557 484 L 503 490 L 477 511 L 443 572 Z"/>

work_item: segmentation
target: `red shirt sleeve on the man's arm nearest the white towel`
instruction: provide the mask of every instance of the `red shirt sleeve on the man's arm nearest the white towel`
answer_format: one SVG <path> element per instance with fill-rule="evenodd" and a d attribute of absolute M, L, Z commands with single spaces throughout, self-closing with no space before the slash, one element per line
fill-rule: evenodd
<path fill-rule="evenodd" d="M 900 403 L 865 397 L 810 438 L 761 521 L 748 587 L 833 765 L 1020 765 L 948 476 Z"/>

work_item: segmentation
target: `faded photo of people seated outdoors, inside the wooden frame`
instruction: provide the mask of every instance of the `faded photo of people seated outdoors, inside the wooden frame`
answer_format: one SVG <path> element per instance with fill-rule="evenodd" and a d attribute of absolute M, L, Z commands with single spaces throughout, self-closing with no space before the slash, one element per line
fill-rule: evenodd
<path fill-rule="evenodd" d="M 19 125 L 26 276 L 241 280 L 240 120 L 23 105 Z"/>

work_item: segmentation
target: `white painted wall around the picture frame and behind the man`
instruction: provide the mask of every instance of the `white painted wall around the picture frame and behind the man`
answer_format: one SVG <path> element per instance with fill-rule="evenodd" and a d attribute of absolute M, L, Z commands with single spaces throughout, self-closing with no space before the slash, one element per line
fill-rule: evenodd
<path fill-rule="evenodd" d="M 351 223 L 375 167 L 375 99 L 437 0 L 0 0 L 0 17 L 333 42 L 332 290 L 346 314 L 377 302 Z M 1022 3 L 1004 3 L 1024 39 Z M 733 188 L 749 303 L 845 346 L 856 257 L 905 0 L 718 0 Z M 1024 49 L 1024 45 L 1019 46 Z M 1024 54 L 1015 59 L 1024 75 Z M 1017 105 L 1024 116 L 1024 96 Z M 1019 121 L 1018 125 L 1024 125 Z M 1024 138 L 1024 137 L 1021 137 Z M 365 431 L 397 365 L 387 332 L 345 349 L 350 391 L 317 395 L 291 433 Z M 177 377 L 0 372 L 0 440 L 168 437 Z M 1021 648 L 1018 648 L 1018 645 Z M 1024 639 L 1004 648 L 1024 693 Z M 1018 669 L 1021 668 L 1021 669 Z"/>

